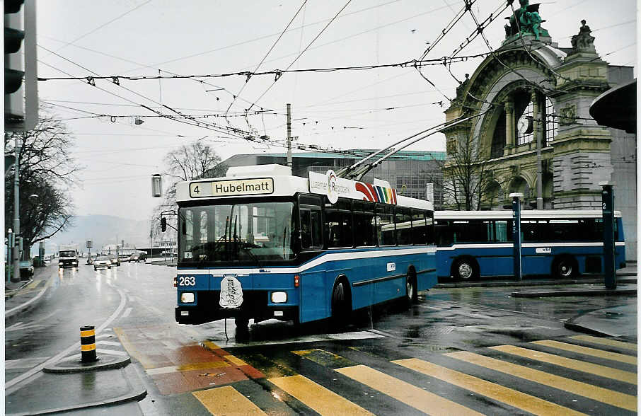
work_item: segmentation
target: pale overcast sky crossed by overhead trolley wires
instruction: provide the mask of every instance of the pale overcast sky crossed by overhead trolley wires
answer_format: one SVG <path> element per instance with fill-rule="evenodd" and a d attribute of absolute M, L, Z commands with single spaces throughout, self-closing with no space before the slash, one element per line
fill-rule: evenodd
<path fill-rule="evenodd" d="M 463 1 L 454 0 L 303 4 L 304 0 L 38 1 L 38 76 L 222 75 L 397 64 L 422 57 L 463 7 Z M 518 7 L 519 1 L 514 4 Z M 497 16 L 503 5 L 504 1 L 477 0 L 472 12 L 483 22 L 490 13 Z M 493 49 L 504 40 L 504 18 L 511 14 L 508 8 L 483 30 Z M 570 37 L 585 19 L 601 57 L 610 64 L 635 66 L 636 76 L 635 1 L 544 1 L 540 14 L 543 28 L 560 47 L 571 46 Z M 473 16 L 466 13 L 425 59 L 451 55 L 475 27 Z M 479 36 L 458 56 L 488 51 Z M 283 152 L 280 146 L 239 136 L 253 132 L 283 141 L 286 104 L 291 103 L 297 143 L 323 149 L 380 148 L 444 122 L 447 98 L 456 96 L 454 77 L 462 80 L 480 62 L 452 64 L 452 74 L 442 64 L 425 67 L 422 72 L 434 86 L 415 68 L 389 67 L 286 73 L 276 82 L 273 74 L 248 81 L 246 76 L 200 79 L 204 82 L 119 79 L 120 86 L 110 80 L 96 80 L 96 86 L 51 80 L 40 81 L 39 93 L 76 137 L 73 156 L 84 167 L 79 187 L 72 191 L 76 213 L 149 219 L 157 201 L 151 198 L 151 174 L 161 173 L 163 156 L 181 144 L 202 138 L 223 159 L 239 153 Z M 192 117 L 181 120 L 200 120 L 209 127 L 150 117 L 154 112 L 142 105 L 163 115 L 180 112 Z M 226 112 L 228 117 L 222 117 Z M 193 118 L 204 115 L 208 117 Z M 136 125 L 136 117 L 144 123 Z M 214 131 L 216 127 L 221 129 Z M 227 127 L 241 132 L 221 133 Z M 410 149 L 444 148 L 440 135 Z"/>

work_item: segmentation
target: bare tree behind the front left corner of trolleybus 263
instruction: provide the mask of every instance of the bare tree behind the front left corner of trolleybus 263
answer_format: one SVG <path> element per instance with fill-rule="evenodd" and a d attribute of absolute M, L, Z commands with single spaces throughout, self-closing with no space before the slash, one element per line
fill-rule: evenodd
<path fill-rule="evenodd" d="M 191 144 L 180 146 L 166 154 L 163 159 L 166 164 L 165 177 L 169 178 L 170 182 L 165 193 L 165 197 L 156 209 L 151 219 L 151 234 L 157 237 L 160 232 L 161 212 L 175 210 L 175 193 L 176 184 L 186 180 L 197 178 L 216 178 L 223 176 L 227 168 L 221 163 L 221 158 L 216 154 L 216 151 L 208 144 L 203 144 L 202 141 L 193 141 Z M 168 218 L 168 221 L 171 217 Z M 175 225 L 175 218 L 171 221 Z M 174 233 L 170 231 L 166 236 L 174 238 Z"/>

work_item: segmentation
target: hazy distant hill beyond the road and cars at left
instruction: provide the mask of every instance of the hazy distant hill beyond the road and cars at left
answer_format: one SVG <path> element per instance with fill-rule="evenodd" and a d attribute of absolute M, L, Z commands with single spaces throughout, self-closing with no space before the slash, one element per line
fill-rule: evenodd
<path fill-rule="evenodd" d="M 149 221 L 110 215 L 74 216 L 73 226 L 45 241 L 45 251 L 54 253 L 57 245 L 78 244 L 86 252 L 86 243 L 91 240 L 93 253 L 103 245 L 116 243 L 116 238 L 118 243 L 124 240 L 125 245 L 149 246 Z M 31 251 L 32 254 L 37 253 L 37 244 Z"/>

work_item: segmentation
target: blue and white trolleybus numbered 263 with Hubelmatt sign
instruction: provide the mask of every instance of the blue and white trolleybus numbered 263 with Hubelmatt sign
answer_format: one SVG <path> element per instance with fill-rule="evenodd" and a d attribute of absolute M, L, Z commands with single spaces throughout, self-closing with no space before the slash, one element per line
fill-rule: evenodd
<path fill-rule="evenodd" d="M 410 304 L 437 283 L 432 229 L 418 226 L 432 222 L 432 203 L 384 181 L 242 166 L 179 183 L 176 196 L 178 323 L 345 321 L 393 299 Z"/>

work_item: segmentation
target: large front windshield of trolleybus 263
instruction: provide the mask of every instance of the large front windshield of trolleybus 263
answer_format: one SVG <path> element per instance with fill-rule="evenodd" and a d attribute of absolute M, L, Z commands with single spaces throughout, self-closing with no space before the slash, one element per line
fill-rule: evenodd
<path fill-rule="evenodd" d="M 260 266 L 294 258 L 293 202 L 180 207 L 178 261 Z"/>

